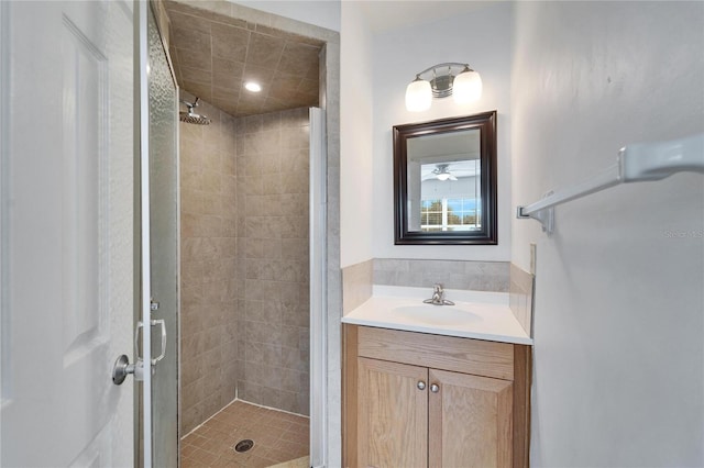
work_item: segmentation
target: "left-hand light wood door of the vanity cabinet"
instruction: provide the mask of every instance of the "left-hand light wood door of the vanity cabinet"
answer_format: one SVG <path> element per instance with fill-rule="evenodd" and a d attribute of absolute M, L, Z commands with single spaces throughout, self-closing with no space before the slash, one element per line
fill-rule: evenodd
<path fill-rule="evenodd" d="M 428 369 L 359 358 L 358 379 L 358 466 L 426 467 Z"/>

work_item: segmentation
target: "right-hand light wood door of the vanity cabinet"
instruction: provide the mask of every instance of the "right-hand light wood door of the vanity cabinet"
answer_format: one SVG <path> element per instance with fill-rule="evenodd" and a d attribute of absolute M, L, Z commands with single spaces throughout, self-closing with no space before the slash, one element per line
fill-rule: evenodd
<path fill-rule="evenodd" d="M 430 467 L 510 467 L 513 383 L 430 369 Z"/>

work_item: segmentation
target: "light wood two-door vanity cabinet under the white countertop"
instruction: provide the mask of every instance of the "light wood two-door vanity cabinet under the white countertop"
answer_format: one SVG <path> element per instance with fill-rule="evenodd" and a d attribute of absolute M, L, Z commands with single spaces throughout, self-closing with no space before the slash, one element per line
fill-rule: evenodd
<path fill-rule="evenodd" d="M 530 347 L 344 325 L 345 467 L 527 467 Z"/>

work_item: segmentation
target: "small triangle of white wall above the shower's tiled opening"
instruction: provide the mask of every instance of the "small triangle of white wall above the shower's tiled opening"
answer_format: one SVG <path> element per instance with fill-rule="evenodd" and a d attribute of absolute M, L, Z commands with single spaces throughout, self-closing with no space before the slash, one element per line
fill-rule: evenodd
<path fill-rule="evenodd" d="M 279 16 L 340 31 L 340 0 L 228 0 Z"/>

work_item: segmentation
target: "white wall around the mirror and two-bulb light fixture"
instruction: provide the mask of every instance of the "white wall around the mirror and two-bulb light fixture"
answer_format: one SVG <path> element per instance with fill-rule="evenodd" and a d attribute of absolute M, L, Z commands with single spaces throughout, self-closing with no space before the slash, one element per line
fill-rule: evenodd
<path fill-rule="evenodd" d="M 374 257 L 510 259 L 512 34 L 513 4 L 506 2 L 374 36 Z M 466 62 L 477 70 L 484 85 L 482 99 L 465 107 L 451 98 L 433 100 L 428 111 L 406 111 L 406 86 L 419 71 L 443 62 Z M 498 111 L 498 245 L 395 246 L 392 127 L 494 109 Z"/>

